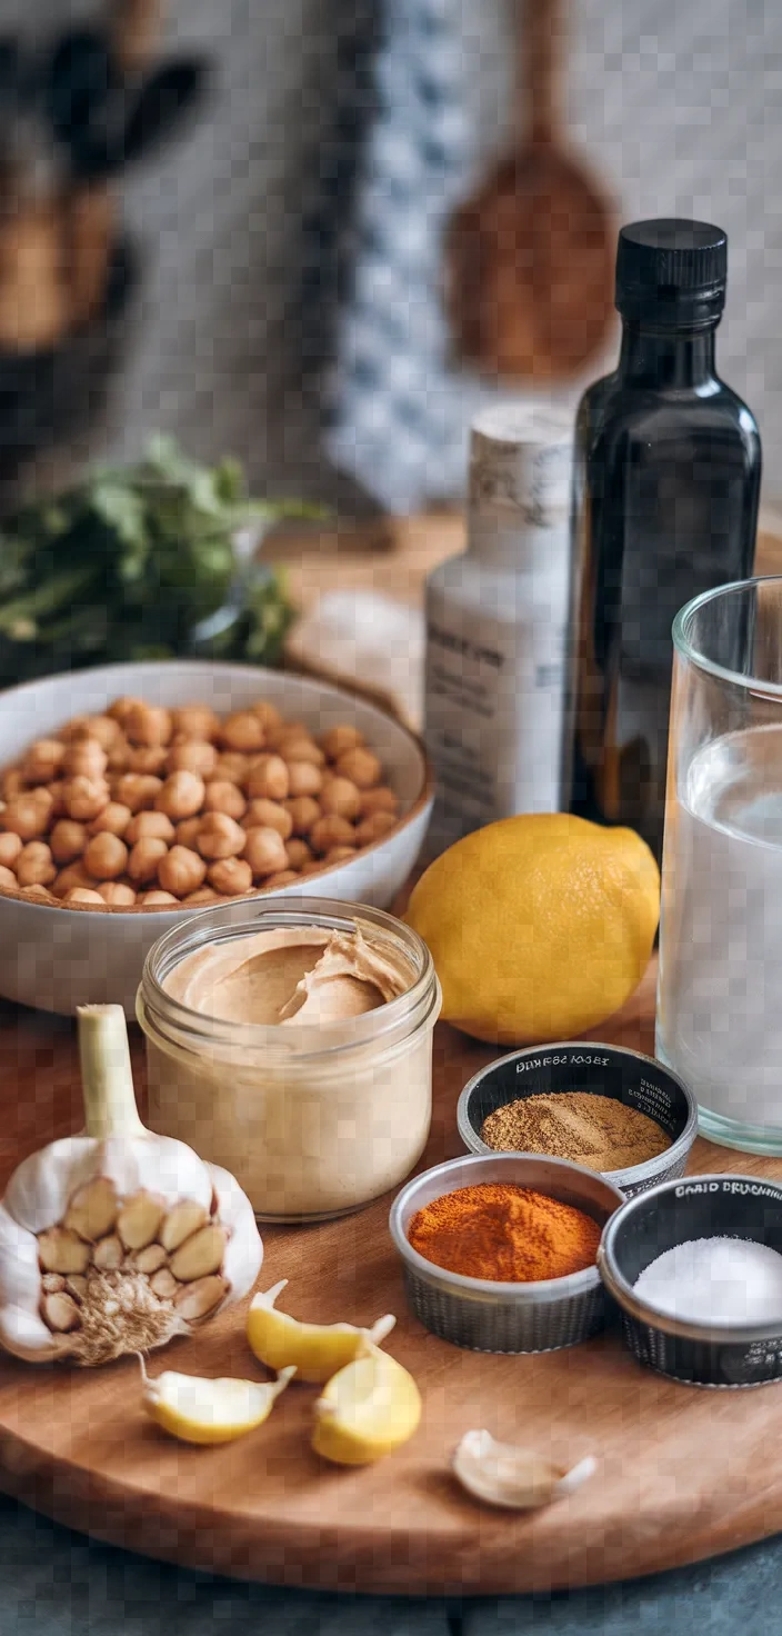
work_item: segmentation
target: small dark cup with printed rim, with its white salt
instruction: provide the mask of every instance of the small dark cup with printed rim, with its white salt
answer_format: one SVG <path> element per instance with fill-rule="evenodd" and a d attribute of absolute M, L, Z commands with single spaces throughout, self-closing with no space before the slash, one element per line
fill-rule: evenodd
<path fill-rule="evenodd" d="M 782 1184 L 651 1188 L 607 1222 L 597 1266 L 638 1363 L 692 1386 L 782 1379 Z"/>

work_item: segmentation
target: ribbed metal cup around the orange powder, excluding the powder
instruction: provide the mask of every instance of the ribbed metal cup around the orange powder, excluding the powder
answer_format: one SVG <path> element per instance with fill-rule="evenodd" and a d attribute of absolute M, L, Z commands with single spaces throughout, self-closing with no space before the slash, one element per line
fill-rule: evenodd
<path fill-rule="evenodd" d="M 414 1315 L 434 1335 L 473 1351 L 556 1351 L 597 1335 L 609 1309 L 597 1266 L 566 1278 L 504 1284 L 450 1273 L 412 1248 L 407 1227 L 417 1211 L 445 1193 L 488 1181 L 532 1188 L 574 1204 L 600 1227 L 623 1204 L 623 1194 L 610 1181 L 563 1158 L 492 1153 L 453 1158 L 422 1171 L 396 1196 L 389 1216 Z"/>

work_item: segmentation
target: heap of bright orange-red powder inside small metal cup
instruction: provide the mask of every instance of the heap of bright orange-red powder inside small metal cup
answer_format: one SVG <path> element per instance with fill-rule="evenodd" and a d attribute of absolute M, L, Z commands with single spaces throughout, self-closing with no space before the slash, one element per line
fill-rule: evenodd
<path fill-rule="evenodd" d="M 407 1238 L 419 1255 L 450 1273 L 520 1284 L 594 1266 L 600 1229 L 573 1204 L 532 1188 L 486 1181 L 424 1204 Z"/>

